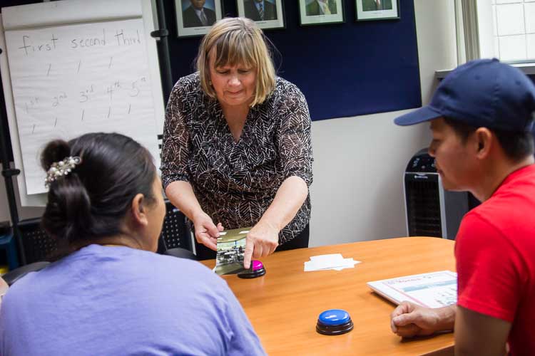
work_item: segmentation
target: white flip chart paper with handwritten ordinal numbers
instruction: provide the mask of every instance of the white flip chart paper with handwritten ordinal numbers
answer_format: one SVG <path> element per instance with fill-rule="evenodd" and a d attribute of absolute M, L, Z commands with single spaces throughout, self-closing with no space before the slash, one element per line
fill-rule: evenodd
<path fill-rule="evenodd" d="M 46 142 L 120 132 L 158 162 L 143 19 L 6 31 L 27 194 L 46 192 Z"/>

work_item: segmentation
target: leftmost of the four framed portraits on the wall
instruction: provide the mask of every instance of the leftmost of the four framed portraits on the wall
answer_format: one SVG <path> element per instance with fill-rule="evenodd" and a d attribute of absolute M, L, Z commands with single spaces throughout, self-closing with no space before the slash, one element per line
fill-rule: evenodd
<path fill-rule="evenodd" d="M 175 0 L 178 37 L 202 36 L 221 19 L 221 0 Z"/>

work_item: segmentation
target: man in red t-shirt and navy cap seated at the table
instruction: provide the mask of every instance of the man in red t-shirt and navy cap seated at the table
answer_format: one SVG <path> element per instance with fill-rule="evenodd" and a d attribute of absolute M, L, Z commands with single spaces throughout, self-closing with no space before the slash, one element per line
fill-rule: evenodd
<path fill-rule="evenodd" d="M 394 333 L 429 335 L 455 326 L 455 353 L 535 354 L 535 86 L 498 60 L 450 73 L 431 103 L 397 125 L 431 121 L 429 155 L 444 189 L 482 203 L 462 220 L 455 245 L 457 306 L 400 304 Z"/>

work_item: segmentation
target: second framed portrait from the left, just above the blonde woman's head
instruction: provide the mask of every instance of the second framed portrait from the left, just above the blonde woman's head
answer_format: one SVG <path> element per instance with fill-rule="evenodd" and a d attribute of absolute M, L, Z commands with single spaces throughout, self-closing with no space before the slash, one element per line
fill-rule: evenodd
<path fill-rule="evenodd" d="M 236 0 L 238 16 L 247 17 L 260 28 L 284 28 L 282 0 Z M 292 0 L 295 1 L 295 0 Z"/>

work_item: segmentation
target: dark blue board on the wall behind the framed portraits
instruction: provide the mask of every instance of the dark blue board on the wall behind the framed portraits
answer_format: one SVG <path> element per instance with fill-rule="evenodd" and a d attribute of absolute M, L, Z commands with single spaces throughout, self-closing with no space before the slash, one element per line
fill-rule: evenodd
<path fill-rule="evenodd" d="M 177 38 L 174 1 L 165 2 L 173 80 L 193 73 L 200 37 Z M 422 105 L 414 2 L 399 1 L 399 20 L 355 22 L 355 0 L 345 23 L 300 26 L 297 0 L 283 0 L 286 28 L 266 30 L 280 55 L 277 73 L 307 98 L 312 120 L 350 117 Z M 236 16 L 235 0 L 223 14 Z"/>

